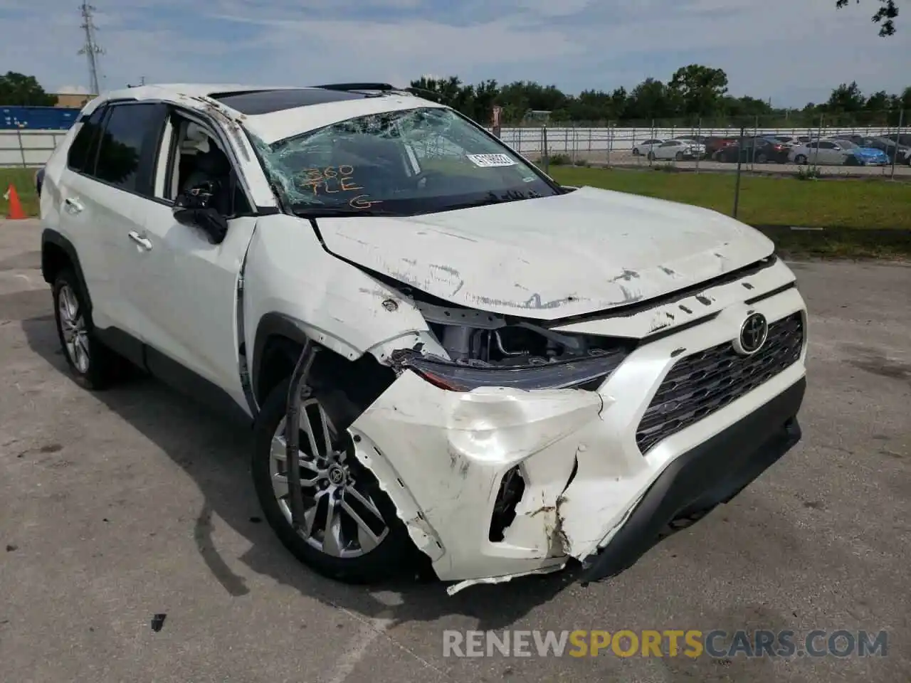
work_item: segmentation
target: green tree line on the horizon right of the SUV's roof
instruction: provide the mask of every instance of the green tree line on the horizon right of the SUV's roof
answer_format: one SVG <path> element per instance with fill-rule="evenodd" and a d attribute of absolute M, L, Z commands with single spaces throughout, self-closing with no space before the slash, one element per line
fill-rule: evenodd
<path fill-rule="evenodd" d="M 578 95 L 534 81 L 500 85 L 496 80 L 464 83 L 458 76 L 421 77 L 411 82 L 419 93 L 435 97 L 468 117 L 489 123 L 493 108 L 502 107 L 503 126 L 534 125 L 541 117 L 555 123 L 651 126 L 813 127 L 820 121 L 838 126 L 896 126 L 904 109 L 911 126 L 911 87 L 900 94 L 865 95 L 857 83 L 835 87 L 827 101 L 805 107 L 773 107 L 760 97 L 733 97 L 723 69 L 682 66 L 668 82 L 646 78 L 628 91 L 583 90 Z M 544 114 L 547 112 L 547 114 Z"/>

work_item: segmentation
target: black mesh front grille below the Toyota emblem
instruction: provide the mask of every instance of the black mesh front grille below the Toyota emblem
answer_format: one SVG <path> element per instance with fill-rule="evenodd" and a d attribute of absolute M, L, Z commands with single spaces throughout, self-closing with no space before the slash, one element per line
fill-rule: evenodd
<path fill-rule="evenodd" d="M 800 359 L 803 345 L 804 320 L 797 312 L 770 323 L 763 348 L 752 356 L 740 355 L 725 342 L 681 358 L 642 415 L 636 430 L 640 451 L 646 454 L 670 434 L 768 382 Z"/>

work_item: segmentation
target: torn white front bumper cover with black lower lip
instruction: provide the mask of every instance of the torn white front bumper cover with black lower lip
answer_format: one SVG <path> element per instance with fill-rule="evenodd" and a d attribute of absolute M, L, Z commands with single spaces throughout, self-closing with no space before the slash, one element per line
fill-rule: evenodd
<path fill-rule="evenodd" d="M 405 371 L 353 423 L 355 454 L 437 576 L 462 582 L 455 590 L 570 558 L 587 566 L 584 580 L 612 576 L 662 527 L 729 500 L 799 437 L 803 301 L 786 291 L 755 310 L 774 321 L 766 355 L 732 358 L 747 307 L 731 306 L 641 345 L 589 390 L 451 391 Z M 705 372 L 713 358 L 722 364 Z M 659 418 L 683 424 L 646 447 L 643 416 L 687 362 L 710 377 L 713 404 L 701 412 L 696 394 L 663 403 Z"/>

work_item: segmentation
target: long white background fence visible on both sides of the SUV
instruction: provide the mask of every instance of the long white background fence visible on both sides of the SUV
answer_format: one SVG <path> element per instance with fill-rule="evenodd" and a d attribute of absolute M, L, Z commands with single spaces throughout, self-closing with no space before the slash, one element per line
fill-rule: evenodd
<path fill-rule="evenodd" d="M 895 128 L 839 127 L 823 128 L 750 128 L 748 135 L 794 135 L 816 137 L 834 135 L 890 136 Z M 574 128 L 548 127 L 548 151 L 551 154 L 598 153 L 630 151 L 651 138 L 676 138 L 685 135 L 735 137 L 740 128 L 652 128 L 609 127 Z M 0 168 L 38 167 L 67 135 L 66 130 L 0 130 Z M 500 138 L 519 154 L 540 153 L 544 129 L 541 127 L 502 128 Z"/>

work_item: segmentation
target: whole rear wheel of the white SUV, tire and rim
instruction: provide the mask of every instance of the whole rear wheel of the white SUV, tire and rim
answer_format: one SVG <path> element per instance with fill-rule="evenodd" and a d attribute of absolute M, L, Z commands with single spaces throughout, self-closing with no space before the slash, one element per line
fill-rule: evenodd
<path fill-rule="evenodd" d="M 57 273 L 53 292 L 57 336 L 73 379 L 86 389 L 107 388 L 126 370 L 126 362 L 97 340 L 76 273 L 68 268 Z"/>

